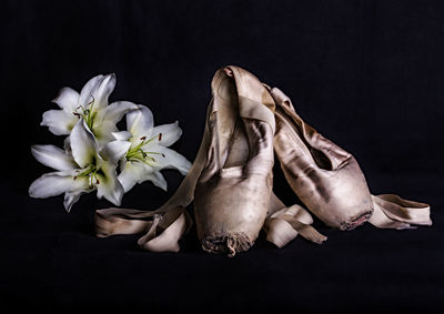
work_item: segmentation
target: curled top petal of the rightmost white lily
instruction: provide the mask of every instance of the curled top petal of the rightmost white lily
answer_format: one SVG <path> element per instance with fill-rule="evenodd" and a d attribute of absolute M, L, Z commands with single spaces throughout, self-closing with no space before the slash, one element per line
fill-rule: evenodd
<path fill-rule="evenodd" d="M 154 125 L 151 110 L 144 105 L 127 113 L 127 128 L 134 136 L 150 138 Z"/>

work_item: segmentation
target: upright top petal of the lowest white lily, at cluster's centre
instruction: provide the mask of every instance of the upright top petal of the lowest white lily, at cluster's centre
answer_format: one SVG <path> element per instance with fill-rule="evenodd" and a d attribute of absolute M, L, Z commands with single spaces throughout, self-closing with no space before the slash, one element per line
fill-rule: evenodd
<path fill-rule="evenodd" d="M 83 119 L 79 120 L 72 129 L 71 135 L 72 156 L 80 168 L 92 163 L 97 158 L 98 142 L 85 125 Z"/>

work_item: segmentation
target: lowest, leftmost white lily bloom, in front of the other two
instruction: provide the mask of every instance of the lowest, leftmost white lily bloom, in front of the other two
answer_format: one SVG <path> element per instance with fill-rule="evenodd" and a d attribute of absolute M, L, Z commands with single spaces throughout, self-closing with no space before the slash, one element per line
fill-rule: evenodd
<path fill-rule="evenodd" d="M 120 205 L 124 192 L 115 168 L 122 155 L 109 156 L 107 151 L 99 152 L 99 143 L 83 119 L 73 126 L 69 144 L 71 150 L 68 151 L 53 145 L 32 146 L 34 158 L 57 171 L 32 182 L 29 195 L 44 199 L 64 193 L 63 204 L 69 212 L 81 194 L 97 190 L 99 199 L 103 196 Z"/>

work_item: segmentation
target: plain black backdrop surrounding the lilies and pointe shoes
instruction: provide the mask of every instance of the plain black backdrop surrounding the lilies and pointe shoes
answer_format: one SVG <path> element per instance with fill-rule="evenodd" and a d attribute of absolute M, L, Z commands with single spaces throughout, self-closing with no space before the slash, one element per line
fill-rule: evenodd
<path fill-rule="evenodd" d="M 2 305 L 234 310 L 436 310 L 442 306 L 444 204 L 443 1 L 2 1 L 0 298 Z M 110 101 L 148 105 L 155 124 L 180 121 L 174 149 L 200 144 L 210 82 L 225 64 L 285 91 L 306 122 L 352 152 L 373 193 L 432 205 L 431 227 L 330 230 L 319 246 L 282 250 L 261 234 L 234 259 L 201 251 L 139 250 L 138 236 L 94 237 L 84 195 L 70 214 L 62 196 L 34 200 L 50 171 L 31 144 L 61 144 L 39 126 L 62 87 L 80 90 L 114 72 Z M 163 171 L 124 207 L 155 209 L 182 176 Z M 297 202 L 275 166 L 274 190 Z M 192 211 L 192 207 L 190 207 Z M 441 303 L 441 305 L 440 305 Z M 67 306 L 69 305 L 69 306 Z M 34 307 L 36 308 L 36 307 Z"/>

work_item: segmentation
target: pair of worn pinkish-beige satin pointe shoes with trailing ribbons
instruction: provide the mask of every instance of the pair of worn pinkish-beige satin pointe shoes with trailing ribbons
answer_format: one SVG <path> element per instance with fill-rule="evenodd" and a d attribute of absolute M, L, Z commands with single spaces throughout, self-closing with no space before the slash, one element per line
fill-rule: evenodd
<path fill-rule="evenodd" d="M 329 226 L 432 224 L 427 204 L 372 195 L 353 155 L 306 124 L 279 89 L 239 67 L 216 71 L 211 88 L 202 143 L 178 191 L 155 211 L 97 211 L 98 236 L 144 233 L 141 247 L 178 252 L 192 223 L 185 207 L 194 201 L 198 235 L 211 253 L 246 251 L 262 229 L 278 247 L 297 234 L 324 242 L 306 210 L 274 195 L 274 152 L 294 193 Z"/>

